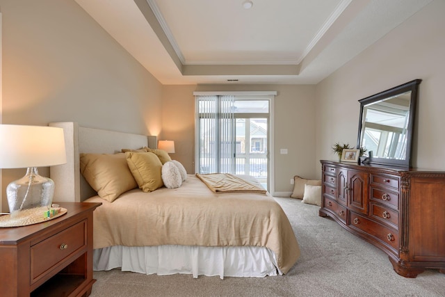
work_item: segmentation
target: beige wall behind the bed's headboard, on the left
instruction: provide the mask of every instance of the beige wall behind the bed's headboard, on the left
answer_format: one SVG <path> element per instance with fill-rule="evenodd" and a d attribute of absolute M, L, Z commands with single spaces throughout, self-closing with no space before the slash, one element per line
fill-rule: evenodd
<path fill-rule="evenodd" d="M 0 0 L 0 9 L 3 124 L 161 131 L 161 83 L 74 1 Z M 6 193 L 24 170 L 2 173 Z"/>

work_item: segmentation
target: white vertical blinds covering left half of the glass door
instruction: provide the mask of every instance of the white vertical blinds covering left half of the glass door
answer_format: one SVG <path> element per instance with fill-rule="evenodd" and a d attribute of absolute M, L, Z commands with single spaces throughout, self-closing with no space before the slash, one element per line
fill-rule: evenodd
<path fill-rule="evenodd" d="M 199 173 L 234 173 L 234 96 L 197 96 Z"/>

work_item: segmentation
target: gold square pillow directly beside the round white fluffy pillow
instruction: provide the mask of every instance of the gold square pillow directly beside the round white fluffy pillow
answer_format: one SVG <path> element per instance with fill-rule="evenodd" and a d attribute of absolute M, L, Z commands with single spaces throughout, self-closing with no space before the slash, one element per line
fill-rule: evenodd
<path fill-rule="evenodd" d="M 126 152 L 131 174 L 144 192 L 151 192 L 163 186 L 162 163 L 152 152 Z"/>

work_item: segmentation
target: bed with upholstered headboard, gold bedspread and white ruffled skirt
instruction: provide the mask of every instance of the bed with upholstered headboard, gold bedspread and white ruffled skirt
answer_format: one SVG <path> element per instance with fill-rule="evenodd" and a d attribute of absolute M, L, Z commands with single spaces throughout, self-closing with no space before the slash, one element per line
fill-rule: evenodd
<path fill-rule="evenodd" d="M 95 271 L 265 277 L 287 273 L 300 256 L 289 220 L 270 194 L 218 193 L 187 175 L 179 188 L 144 193 L 136 187 L 110 201 L 83 178 L 79 156 L 154 147 L 156 139 L 75 122 L 50 126 L 64 129 L 67 150 L 67 163 L 50 168 L 54 200 L 102 202 L 94 213 Z M 252 177 L 241 178 L 261 187 Z"/>

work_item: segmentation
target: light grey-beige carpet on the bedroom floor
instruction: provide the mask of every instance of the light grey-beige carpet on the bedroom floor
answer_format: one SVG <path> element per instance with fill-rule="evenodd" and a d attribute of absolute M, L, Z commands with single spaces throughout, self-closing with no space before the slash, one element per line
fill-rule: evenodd
<path fill-rule="evenodd" d="M 94 273 L 90 296 L 445 296 L 445 274 L 426 270 L 417 278 L 403 278 L 384 252 L 318 216 L 319 207 L 275 199 L 291 221 L 302 254 L 286 275 L 220 280 L 115 269 Z"/>

